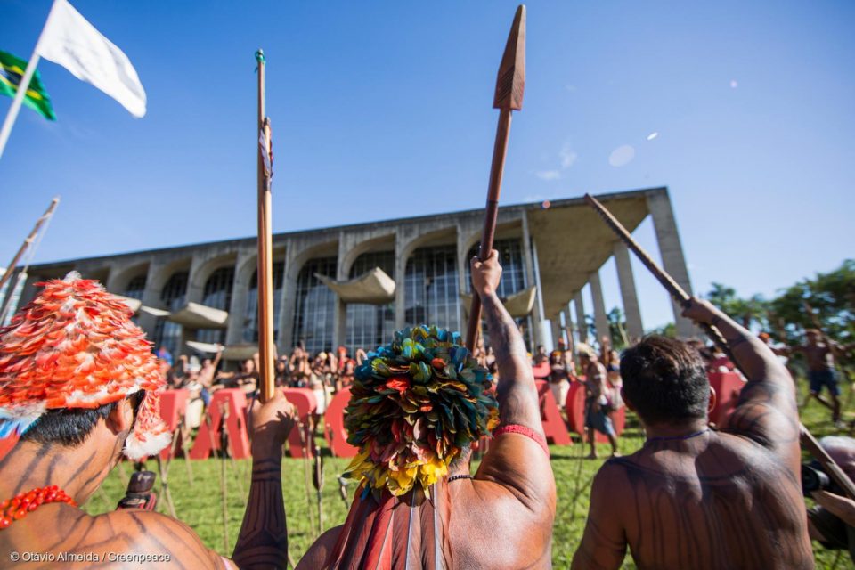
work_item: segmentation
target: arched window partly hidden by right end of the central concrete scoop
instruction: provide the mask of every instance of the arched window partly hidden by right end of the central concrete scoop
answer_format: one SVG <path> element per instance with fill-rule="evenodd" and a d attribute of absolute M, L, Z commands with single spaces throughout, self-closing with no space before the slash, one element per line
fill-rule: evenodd
<path fill-rule="evenodd" d="M 379 267 L 389 277 L 395 274 L 394 251 L 372 251 L 356 258 L 350 268 L 350 279 L 359 277 Z M 350 354 L 357 348 L 371 350 L 392 340 L 395 331 L 395 303 L 365 305 L 348 303 L 346 313 L 346 346 Z"/>

